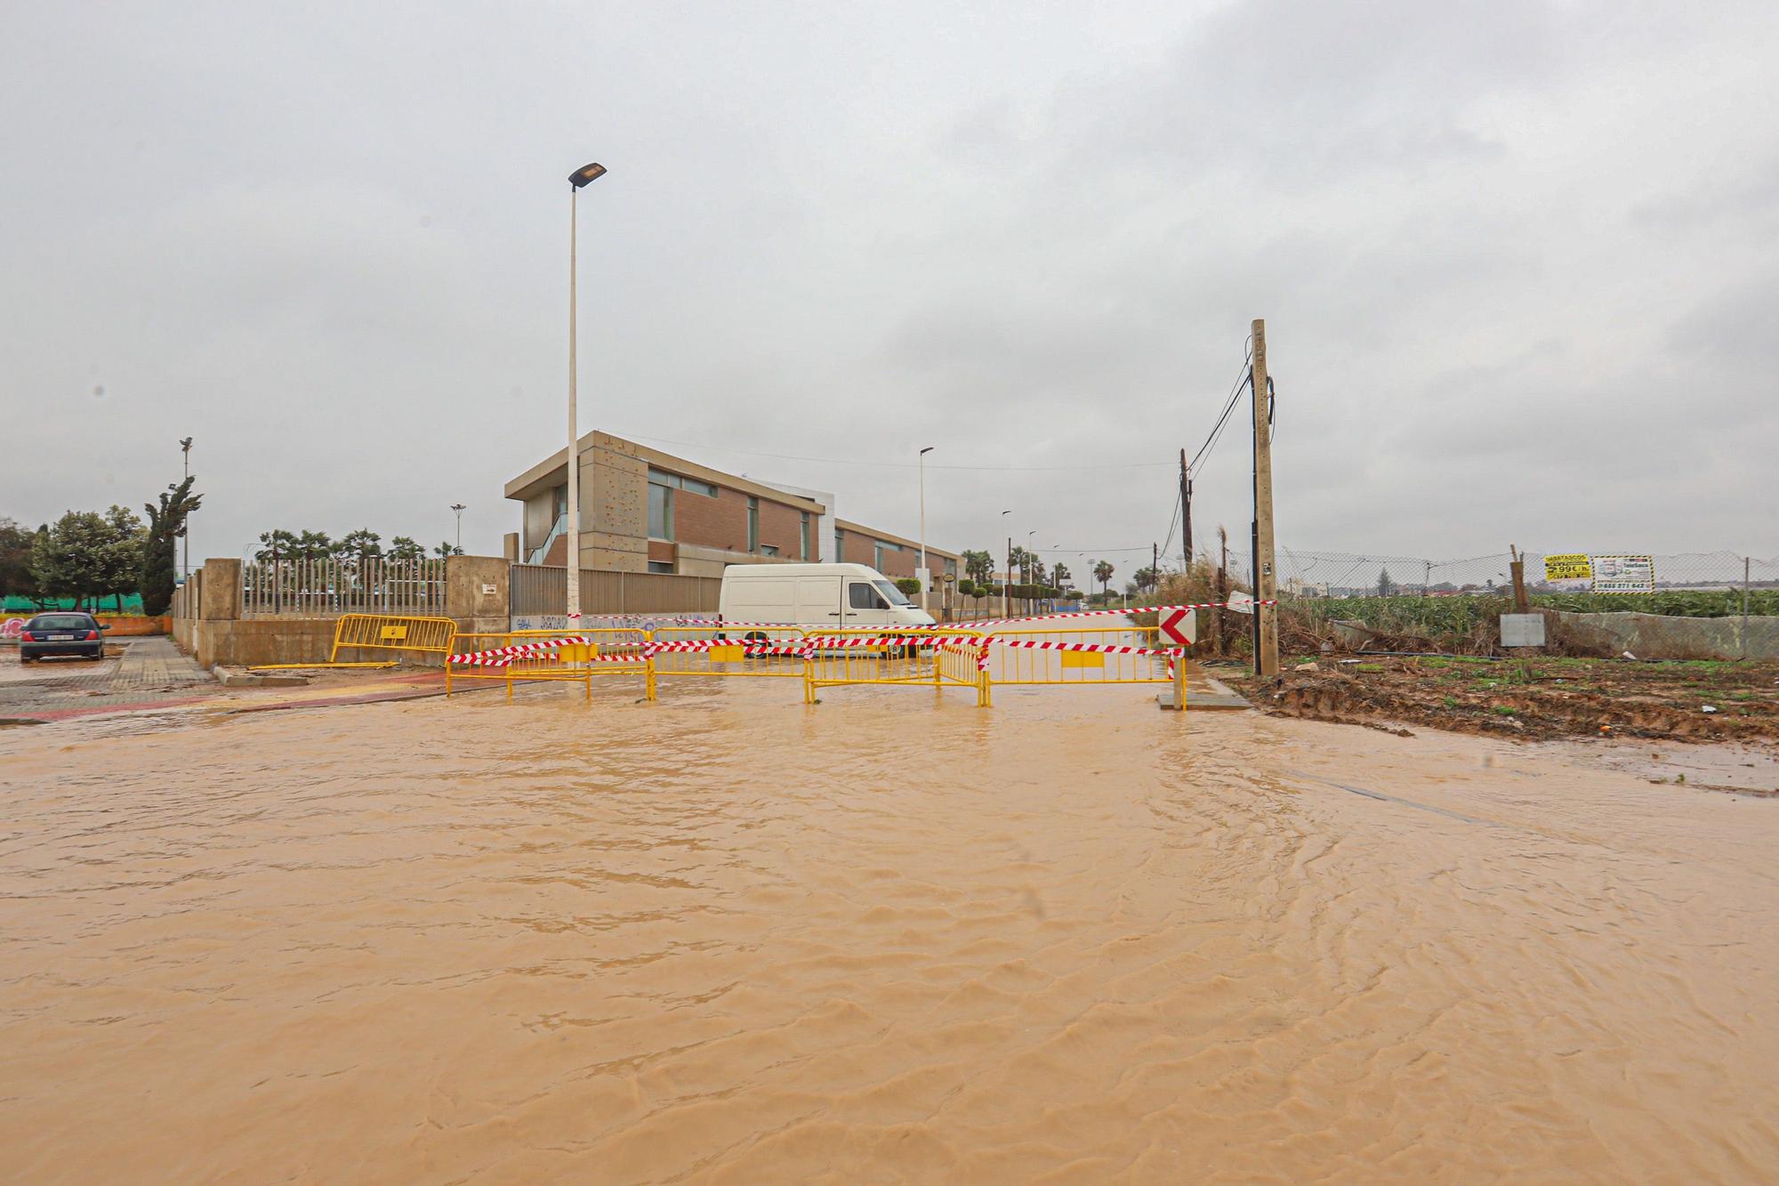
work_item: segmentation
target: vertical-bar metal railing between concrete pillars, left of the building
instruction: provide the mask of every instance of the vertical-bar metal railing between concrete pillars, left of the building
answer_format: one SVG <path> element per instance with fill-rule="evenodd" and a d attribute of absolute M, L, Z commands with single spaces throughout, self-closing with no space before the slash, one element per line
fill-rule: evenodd
<path fill-rule="evenodd" d="M 242 565 L 242 618 L 445 614 L 445 559 L 317 559 Z"/>

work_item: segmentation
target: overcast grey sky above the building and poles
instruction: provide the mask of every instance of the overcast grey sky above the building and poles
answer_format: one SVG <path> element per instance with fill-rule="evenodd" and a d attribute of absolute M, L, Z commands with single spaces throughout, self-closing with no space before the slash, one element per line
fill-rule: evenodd
<path fill-rule="evenodd" d="M 1772 556 L 1775 73 L 1770 0 L 11 5 L 0 515 L 194 435 L 194 559 L 498 554 L 600 160 L 584 431 L 909 534 L 932 443 L 934 543 L 1128 573 L 1265 317 L 1292 547 Z"/>

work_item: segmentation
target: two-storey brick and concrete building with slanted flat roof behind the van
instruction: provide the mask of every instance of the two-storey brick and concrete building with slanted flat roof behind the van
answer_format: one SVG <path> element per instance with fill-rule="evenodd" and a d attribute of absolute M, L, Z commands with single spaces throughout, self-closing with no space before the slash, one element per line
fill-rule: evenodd
<path fill-rule="evenodd" d="M 913 577 L 920 541 L 834 518 L 833 495 L 724 474 L 612 436 L 580 438 L 580 566 L 717 577 L 728 565 L 852 561 Z M 568 556 L 568 449 L 507 483 L 523 506 L 518 557 L 562 565 Z M 833 536 L 827 525 L 833 524 Z M 959 556 L 927 545 L 934 577 L 959 573 Z"/>

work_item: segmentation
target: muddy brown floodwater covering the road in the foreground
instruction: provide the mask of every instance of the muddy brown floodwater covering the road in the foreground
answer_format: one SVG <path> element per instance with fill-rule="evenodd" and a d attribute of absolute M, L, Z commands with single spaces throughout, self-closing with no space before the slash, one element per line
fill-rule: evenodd
<path fill-rule="evenodd" d="M 12 1181 L 1770 1181 L 1779 803 L 770 680 L 0 734 Z"/>

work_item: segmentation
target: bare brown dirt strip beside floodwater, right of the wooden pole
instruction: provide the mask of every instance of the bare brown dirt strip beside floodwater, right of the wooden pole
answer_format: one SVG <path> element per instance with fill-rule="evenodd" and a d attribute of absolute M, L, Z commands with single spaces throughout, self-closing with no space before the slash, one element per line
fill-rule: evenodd
<path fill-rule="evenodd" d="M 1256 707 L 1315 721 L 1548 741 L 1779 741 L 1779 662 L 1372 657 L 1286 661 L 1231 678 Z"/>

